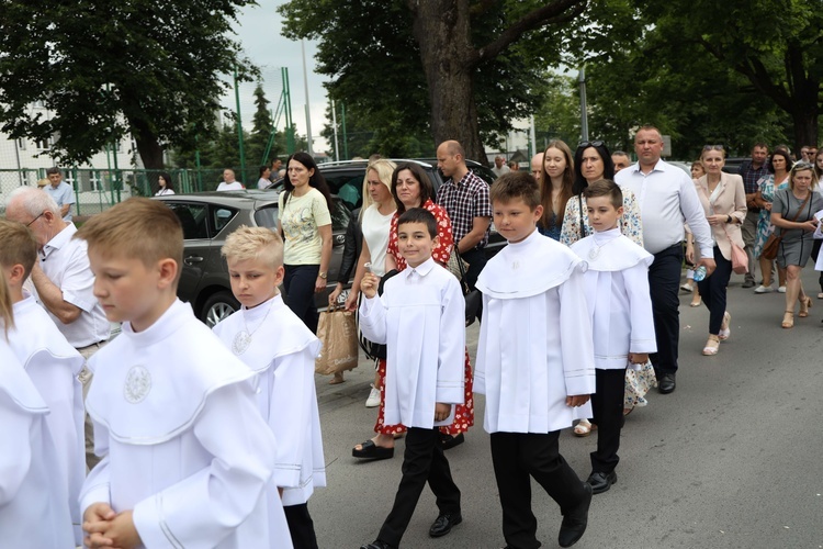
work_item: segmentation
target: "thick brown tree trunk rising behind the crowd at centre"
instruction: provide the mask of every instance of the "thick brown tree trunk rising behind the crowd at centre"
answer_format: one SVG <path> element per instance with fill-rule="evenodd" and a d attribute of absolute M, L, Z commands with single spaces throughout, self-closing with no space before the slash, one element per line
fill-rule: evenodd
<path fill-rule="evenodd" d="M 466 158 L 487 164 L 474 101 L 467 0 L 409 0 L 431 99 L 435 145 L 456 139 Z"/>

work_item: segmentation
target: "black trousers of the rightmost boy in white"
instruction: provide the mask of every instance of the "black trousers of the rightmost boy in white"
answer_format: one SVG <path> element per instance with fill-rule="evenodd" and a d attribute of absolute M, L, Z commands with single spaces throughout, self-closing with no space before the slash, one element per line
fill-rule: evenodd
<path fill-rule="evenodd" d="M 595 370 L 596 392 L 591 412 L 597 425 L 597 451 L 590 453 L 591 472 L 610 473 L 620 461 L 620 429 L 623 428 L 625 369 Z"/>

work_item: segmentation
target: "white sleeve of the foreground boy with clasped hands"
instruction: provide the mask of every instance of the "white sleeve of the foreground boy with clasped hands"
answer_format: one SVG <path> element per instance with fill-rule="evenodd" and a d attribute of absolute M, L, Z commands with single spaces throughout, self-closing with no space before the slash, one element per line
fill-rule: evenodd
<path fill-rule="evenodd" d="M 250 385 L 212 393 L 191 428 L 214 459 L 135 505 L 134 525 L 146 547 L 218 546 L 261 505 L 275 442 Z"/>

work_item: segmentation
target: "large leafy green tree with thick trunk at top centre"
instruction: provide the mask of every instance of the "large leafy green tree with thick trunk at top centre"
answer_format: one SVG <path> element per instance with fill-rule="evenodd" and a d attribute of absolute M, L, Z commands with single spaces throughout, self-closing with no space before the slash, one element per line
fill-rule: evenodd
<path fill-rule="evenodd" d="M 346 0 L 292 0 L 279 11 L 284 35 L 320 41 L 318 70 L 334 77 L 329 96 L 347 110 L 361 105 L 369 126 L 391 121 L 412 135 L 428 126 L 435 143 L 458 139 L 469 157 L 485 160 L 482 137 L 494 143 L 542 100 L 545 65 L 525 57 L 518 41 L 533 33 L 545 43 L 546 25 L 573 20 L 585 5 L 360 0 L 353 10 Z"/>

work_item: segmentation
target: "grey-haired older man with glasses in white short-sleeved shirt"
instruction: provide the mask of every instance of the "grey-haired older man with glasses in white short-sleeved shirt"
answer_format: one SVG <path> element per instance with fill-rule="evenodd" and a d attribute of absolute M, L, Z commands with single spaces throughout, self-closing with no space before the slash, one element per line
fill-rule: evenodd
<path fill-rule="evenodd" d="M 74 223 L 63 221 L 52 197 L 32 187 L 9 194 L 5 217 L 26 225 L 37 238 L 40 261 L 31 276 L 35 296 L 68 343 L 88 359 L 109 340 L 111 324 L 94 298 L 86 240 L 71 238 L 77 232 Z M 80 377 L 86 393 L 91 376 L 83 369 Z M 91 468 L 98 459 L 89 427 L 87 419 L 86 462 Z"/>

